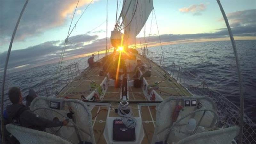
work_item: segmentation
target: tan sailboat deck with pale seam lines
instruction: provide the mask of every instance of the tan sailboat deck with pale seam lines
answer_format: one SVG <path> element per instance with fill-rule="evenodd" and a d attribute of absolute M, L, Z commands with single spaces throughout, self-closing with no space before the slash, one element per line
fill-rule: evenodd
<path fill-rule="evenodd" d="M 165 72 L 156 63 L 151 62 L 147 58 L 137 54 L 146 70 L 151 70 L 150 77 L 144 77 L 149 85 L 153 85 L 154 82 L 159 82 L 159 88 L 156 92 L 166 99 L 168 96 L 191 96 L 187 89 L 177 83 L 176 80 L 171 78 L 167 72 Z M 87 97 L 93 90 L 90 88 L 90 81 L 94 80 L 99 84 L 104 80 L 105 76 L 99 76 L 100 67 L 88 67 L 66 87 L 64 87 L 57 97 L 59 98 L 72 98 L 81 99 L 81 95 Z M 135 72 L 127 72 L 127 78 L 132 79 Z M 105 94 L 100 98 L 101 100 L 116 100 L 120 101 L 122 88 L 115 88 L 114 86 L 108 86 Z M 135 88 L 133 86 L 128 87 L 128 101 L 148 101 L 145 97 L 142 88 Z M 139 106 L 138 104 L 130 104 L 134 117 L 141 116 L 142 125 L 144 129 L 144 138 L 142 144 L 151 143 L 153 133 L 155 130 L 156 122 L 156 108 L 155 106 Z M 120 117 L 115 113 L 118 104 L 111 104 L 111 109 L 108 106 L 95 106 L 92 108 L 92 125 L 94 131 L 94 137 L 96 143 L 106 143 L 103 133 L 106 124 L 107 117 Z"/>

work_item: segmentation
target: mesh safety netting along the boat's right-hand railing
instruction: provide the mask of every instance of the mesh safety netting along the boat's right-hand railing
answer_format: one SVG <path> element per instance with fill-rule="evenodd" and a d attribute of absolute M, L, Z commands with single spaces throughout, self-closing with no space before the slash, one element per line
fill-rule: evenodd
<path fill-rule="evenodd" d="M 209 85 L 204 80 L 196 77 L 188 71 L 182 71 L 176 65 L 176 69 L 172 67 L 170 75 L 180 84 L 186 87 L 193 95 L 208 96 L 212 99 L 217 107 L 219 116 L 219 127 L 227 128 L 230 126 L 238 126 L 240 124 L 240 108 L 233 102 L 228 100 L 224 95 L 209 88 Z M 238 135 L 235 137 L 238 142 Z M 256 143 L 256 124 L 244 114 L 243 137 L 242 143 Z"/>

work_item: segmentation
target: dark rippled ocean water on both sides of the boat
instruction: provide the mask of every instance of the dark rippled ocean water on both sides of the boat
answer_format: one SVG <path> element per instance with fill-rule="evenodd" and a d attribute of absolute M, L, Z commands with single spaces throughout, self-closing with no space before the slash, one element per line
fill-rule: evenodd
<path fill-rule="evenodd" d="M 236 41 L 236 46 L 243 76 L 244 111 L 256 123 L 254 112 L 256 109 L 256 40 Z M 230 41 L 164 45 L 162 49 L 167 72 L 170 72 L 172 63 L 175 62 L 183 70 L 189 71 L 198 78 L 205 80 L 211 89 L 218 91 L 239 107 L 238 76 Z M 153 52 L 153 61 L 160 63 L 162 55 L 160 46 L 150 47 L 148 51 Z M 101 57 L 103 55 L 99 56 L 99 58 Z M 150 52 L 148 52 L 148 57 L 151 58 Z M 87 58 L 83 57 L 64 61 L 62 66 L 66 67 L 77 62 L 81 72 L 88 66 Z M 98 57 L 96 56 L 95 59 L 97 60 Z M 58 79 L 60 85 L 54 88 L 52 82 L 55 79 L 51 76 L 55 75 L 56 68 L 57 64 L 55 63 L 8 74 L 5 86 L 4 107 L 10 103 L 7 95 L 9 87 L 20 87 L 23 97 L 28 94 L 29 88 L 39 91 L 39 96 L 46 96 L 47 94 L 54 93 L 54 90 L 63 87 L 68 83 L 68 72 L 63 71 L 60 74 Z M 69 74 L 70 79 L 72 76 L 75 77 L 75 75 L 76 73 L 74 72 Z M 43 82 L 45 79 L 47 81 Z M 0 83 L 2 85 L 2 75 Z M 47 93 L 45 87 L 47 88 Z"/>

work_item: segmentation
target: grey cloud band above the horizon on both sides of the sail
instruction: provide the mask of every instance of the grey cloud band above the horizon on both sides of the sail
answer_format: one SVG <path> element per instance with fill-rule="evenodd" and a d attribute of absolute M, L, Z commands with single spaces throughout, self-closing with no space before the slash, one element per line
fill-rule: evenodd
<path fill-rule="evenodd" d="M 256 36 L 256 22 L 255 15 L 251 14 L 256 10 L 246 10 L 227 14 L 230 17 L 230 24 L 233 25 L 232 32 L 234 36 Z M 243 14 L 247 13 L 247 14 Z M 246 16 L 247 18 L 240 18 L 239 16 Z M 232 19 L 236 19 L 233 20 Z M 238 22 L 239 21 L 239 22 Z M 223 21 L 224 23 L 224 21 Z M 237 24 L 239 23 L 239 24 Z M 172 42 L 179 40 L 191 40 L 191 39 L 207 39 L 207 38 L 222 38 L 229 37 L 228 30 L 226 28 L 217 29 L 214 33 L 198 33 L 198 34 L 163 34 L 160 35 L 162 42 Z M 76 35 L 69 37 L 69 41 L 66 47 L 65 57 L 77 56 L 86 54 L 88 52 L 100 51 L 106 48 L 106 38 L 97 39 L 97 35 Z M 144 39 L 144 38 L 143 38 Z M 148 37 L 146 37 L 148 40 Z M 108 38 L 107 48 L 110 46 L 110 39 Z M 140 42 L 137 38 L 137 42 Z M 143 42 L 143 41 L 141 41 Z M 150 43 L 158 43 L 159 36 L 151 35 L 149 38 Z M 76 45 L 76 46 L 75 46 Z M 79 48 L 77 47 L 79 46 Z M 28 47 L 21 50 L 13 50 L 11 52 L 8 68 L 14 68 L 22 65 L 28 65 L 28 67 L 35 67 L 42 63 L 58 62 L 60 54 L 63 48 L 63 41 L 49 41 L 42 44 Z M 4 66 L 6 51 L 0 53 L 0 65 Z M 2 69 L 1 69 L 2 70 Z"/>

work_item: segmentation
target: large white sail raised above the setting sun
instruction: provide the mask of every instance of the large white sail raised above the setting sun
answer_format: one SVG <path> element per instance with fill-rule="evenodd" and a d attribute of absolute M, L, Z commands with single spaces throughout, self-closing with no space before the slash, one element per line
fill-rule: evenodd
<path fill-rule="evenodd" d="M 124 38 L 127 44 L 134 44 L 136 36 L 145 25 L 153 10 L 153 0 L 124 0 L 121 12 L 124 23 Z"/>

